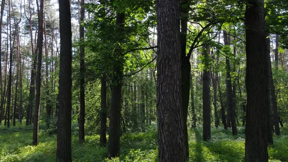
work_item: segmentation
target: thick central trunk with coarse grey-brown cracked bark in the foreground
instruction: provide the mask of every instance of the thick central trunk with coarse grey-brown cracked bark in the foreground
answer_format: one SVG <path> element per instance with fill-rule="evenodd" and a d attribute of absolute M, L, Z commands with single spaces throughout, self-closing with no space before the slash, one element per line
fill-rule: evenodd
<path fill-rule="evenodd" d="M 158 0 L 157 117 L 159 162 L 185 162 L 181 93 L 180 1 Z"/>

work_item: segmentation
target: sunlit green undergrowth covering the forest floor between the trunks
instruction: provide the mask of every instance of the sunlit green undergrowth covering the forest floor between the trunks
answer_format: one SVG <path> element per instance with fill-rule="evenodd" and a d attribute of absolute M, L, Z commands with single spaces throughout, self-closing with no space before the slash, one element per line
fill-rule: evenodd
<path fill-rule="evenodd" d="M 32 146 L 33 126 L 17 125 L 6 128 L 0 125 L 0 162 L 54 162 L 56 134 L 40 126 L 39 145 Z M 107 147 L 99 147 L 99 136 L 85 136 L 85 143 L 78 143 L 77 132 L 72 126 L 72 159 L 74 162 L 157 162 L 156 124 L 146 133 L 124 134 L 121 137 L 120 158 L 107 160 Z M 77 130 L 76 130 L 77 131 Z M 50 134 L 50 135 L 49 135 Z M 212 140 L 202 141 L 202 128 L 189 130 L 190 162 L 242 162 L 245 152 L 244 127 L 238 126 L 238 135 L 231 130 L 211 129 Z M 288 125 L 281 136 L 274 136 L 269 146 L 270 162 L 288 162 Z"/>

